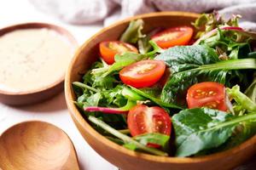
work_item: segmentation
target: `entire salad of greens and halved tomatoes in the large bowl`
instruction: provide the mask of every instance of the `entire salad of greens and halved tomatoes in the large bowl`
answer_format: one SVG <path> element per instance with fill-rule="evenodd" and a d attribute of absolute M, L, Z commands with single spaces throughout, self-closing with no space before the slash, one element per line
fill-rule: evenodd
<path fill-rule="evenodd" d="M 255 34 L 201 14 L 190 26 L 143 31 L 132 20 L 119 40 L 73 82 L 79 111 L 103 136 L 156 156 L 203 156 L 256 133 Z"/>

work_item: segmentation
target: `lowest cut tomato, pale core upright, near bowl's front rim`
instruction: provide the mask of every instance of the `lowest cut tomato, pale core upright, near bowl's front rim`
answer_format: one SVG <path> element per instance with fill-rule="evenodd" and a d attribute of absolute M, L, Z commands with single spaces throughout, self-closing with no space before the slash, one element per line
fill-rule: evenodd
<path fill-rule="evenodd" d="M 143 133 L 163 133 L 170 135 L 172 130 L 171 117 L 164 109 L 158 106 L 134 106 L 128 113 L 127 124 L 131 136 L 137 136 Z M 154 146 L 156 147 L 156 145 Z"/>

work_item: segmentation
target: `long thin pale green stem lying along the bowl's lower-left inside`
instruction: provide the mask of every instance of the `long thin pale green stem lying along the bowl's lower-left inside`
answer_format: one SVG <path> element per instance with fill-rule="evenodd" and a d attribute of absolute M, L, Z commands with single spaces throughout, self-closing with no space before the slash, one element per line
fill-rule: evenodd
<path fill-rule="evenodd" d="M 90 122 L 95 123 L 97 126 L 102 127 L 108 133 L 113 134 L 113 136 L 122 139 L 125 143 L 135 144 L 138 149 L 148 152 L 150 154 L 154 154 L 156 156 L 168 156 L 166 152 L 156 150 L 153 148 L 148 148 L 147 146 L 138 143 L 136 140 L 131 139 L 131 137 L 126 136 L 123 133 L 120 133 L 118 130 L 115 130 L 113 127 L 110 127 L 107 123 L 102 122 L 101 120 L 97 119 L 95 116 L 89 116 L 88 119 Z"/>

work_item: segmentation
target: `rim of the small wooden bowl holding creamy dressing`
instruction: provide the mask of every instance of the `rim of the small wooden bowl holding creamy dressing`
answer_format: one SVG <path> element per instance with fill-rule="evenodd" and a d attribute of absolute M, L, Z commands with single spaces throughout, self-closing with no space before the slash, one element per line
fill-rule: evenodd
<path fill-rule="evenodd" d="M 75 52 L 76 49 L 79 47 L 79 43 L 77 42 L 75 37 L 73 37 L 73 35 L 69 31 L 67 31 L 67 29 L 61 26 L 56 26 L 56 25 L 44 23 L 44 22 L 26 22 L 26 23 L 20 23 L 20 24 L 3 27 L 0 29 L 0 37 L 12 31 L 25 30 L 25 29 L 42 29 L 42 28 L 47 28 L 49 30 L 55 31 L 61 37 L 65 38 L 67 42 L 70 44 L 70 47 L 73 48 L 73 52 Z M 73 56 L 71 58 L 73 58 Z M 43 88 L 35 88 L 32 90 L 26 90 L 26 91 L 20 91 L 20 92 L 10 92 L 10 91 L 5 91 L 3 89 L 0 89 L 0 94 L 9 95 L 9 96 L 41 94 L 50 88 L 54 88 L 55 86 L 59 85 L 61 82 L 64 82 L 65 76 L 66 76 L 66 72 L 61 77 L 56 79 L 55 82 Z"/>

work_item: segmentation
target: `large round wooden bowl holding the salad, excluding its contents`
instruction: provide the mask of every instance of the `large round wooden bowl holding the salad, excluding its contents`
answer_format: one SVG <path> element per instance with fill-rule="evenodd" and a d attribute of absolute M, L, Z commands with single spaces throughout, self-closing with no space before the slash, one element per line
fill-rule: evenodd
<path fill-rule="evenodd" d="M 199 15 L 183 12 L 162 12 L 153 14 L 143 14 L 131 17 L 127 20 L 117 22 L 112 26 L 99 31 L 95 36 L 84 42 L 84 45 L 79 48 L 73 61 L 69 65 L 65 79 L 65 95 L 68 110 L 73 118 L 80 133 L 90 146 L 96 150 L 98 154 L 104 157 L 113 165 L 122 170 L 216 170 L 216 169 L 231 169 L 246 161 L 249 157 L 256 153 L 256 136 L 248 139 L 243 144 L 231 150 L 218 152 L 210 156 L 199 156 L 195 158 L 178 158 L 178 157 L 161 157 L 139 153 L 132 150 L 127 150 L 125 147 L 113 143 L 102 134 L 97 133 L 95 129 L 90 127 L 81 113 L 79 112 L 73 101 L 76 100 L 73 93 L 72 82 L 81 80 L 81 73 L 89 69 L 90 65 L 96 61 L 98 56 L 98 43 L 104 40 L 115 40 L 131 20 L 143 19 L 145 22 L 145 30 L 150 30 L 157 26 L 182 26 L 190 25 Z"/>

